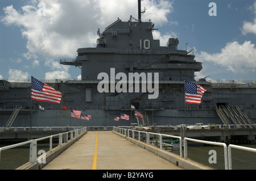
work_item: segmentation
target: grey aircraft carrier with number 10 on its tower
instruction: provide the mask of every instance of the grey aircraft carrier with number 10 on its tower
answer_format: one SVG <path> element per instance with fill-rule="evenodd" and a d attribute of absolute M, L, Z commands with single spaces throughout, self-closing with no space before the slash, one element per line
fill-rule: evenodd
<path fill-rule="evenodd" d="M 98 30 L 96 47 L 78 48 L 76 58 L 60 60 L 60 64 L 76 66 L 81 79 L 44 80 L 33 75 L 62 93 L 60 104 L 31 100 L 31 79 L 0 80 L 0 127 L 131 125 L 137 123 L 131 106 L 150 125 L 254 127 L 255 81 L 195 79 L 202 62 L 191 51 L 179 50 L 176 38 L 161 46 L 152 36 L 155 24 L 141 15 L 138 1 L 138 18 L 130 16 L 126 22 L 117 18 L 105 30 Z M 136 77 L 140 79 L 129 82 Z M 185 104 L 184 81 L 207 89 L 200 104 Z M 92 118 L 75 119 L 71 110 Z M 115 121 L 121 113 L 130 119 Z"/>

